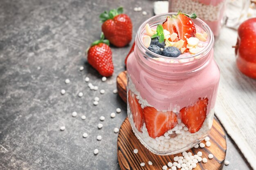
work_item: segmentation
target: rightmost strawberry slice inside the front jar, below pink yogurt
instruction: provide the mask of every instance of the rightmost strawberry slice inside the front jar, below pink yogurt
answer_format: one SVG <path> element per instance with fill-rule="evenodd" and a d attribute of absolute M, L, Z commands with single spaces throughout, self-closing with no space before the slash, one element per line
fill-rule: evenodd
<path fill-rule="evenodd" d="M 189 132 L 195 133 L 200 130 L 206 118 L 207 105 L 207 98 L 199 98 L 195 105 L 180 110 L 181 121 L 189 128 Z"/>

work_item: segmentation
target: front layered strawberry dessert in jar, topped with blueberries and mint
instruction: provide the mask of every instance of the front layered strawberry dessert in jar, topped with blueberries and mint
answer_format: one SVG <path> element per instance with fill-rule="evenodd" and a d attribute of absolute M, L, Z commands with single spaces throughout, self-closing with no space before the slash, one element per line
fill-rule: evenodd
<path fill-rule="evenodd" d="M 127 60 L 128 117 L 156 154 L 188 150 L 212 126 L 220 72 L 212 33 L 192 18 L 179 12 L 142 24 Z"/>

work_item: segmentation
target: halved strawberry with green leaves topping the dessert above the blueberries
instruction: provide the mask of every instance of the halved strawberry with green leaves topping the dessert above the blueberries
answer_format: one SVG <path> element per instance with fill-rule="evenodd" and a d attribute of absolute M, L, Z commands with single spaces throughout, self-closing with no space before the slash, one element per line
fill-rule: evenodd
<path fill-rule="evenodd" d="M 196 15 L 191 15 L 191 18 L 196 18 Z M 186 38 L 195 37 L 195 24 L 189 18 L 188 15 L 183 13 L 177 13 L 177 15 L 171 15 L 166 18 L 166 21 L 163 23 L 163 28 L 172 33 L 177 33 L 178 40 L 184 40 L 183 47 L 186 48 L 187 41 Z M 171 39 L 169 39 L 171 41 Z"/>

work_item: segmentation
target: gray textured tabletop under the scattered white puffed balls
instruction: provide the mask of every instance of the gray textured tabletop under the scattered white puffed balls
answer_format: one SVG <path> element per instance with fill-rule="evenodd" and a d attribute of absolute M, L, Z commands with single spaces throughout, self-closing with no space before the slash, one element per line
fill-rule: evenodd
<path fill-rule="evenodd" d="M 134 38 L 141 22 L 153 15 L 152 0 L 0 1 L 0 170 L 119 170 L 113 129 L 125 119 L 126 104 L 112 91 L 130 47 L 112 47 L 115 74 L 106 82 L 86 63 L 84 51 L 99 38 L 98 15 L 120 5 L 132 19 Z M 136 6 L 148 14 L 133 12 Z M 86 76 L 106 93 L 90 91 Z M 70 84 L 64 83 L 67 78 Z M 92 104 L 96 96 L 98 106 Z M 122 112 L 111 119 L 117 107 Z M 101 115 L 106 119 L 98 130 Z M 250 169 L 229 137 L 227 148 L 230 165 L 224 170 Z"/>

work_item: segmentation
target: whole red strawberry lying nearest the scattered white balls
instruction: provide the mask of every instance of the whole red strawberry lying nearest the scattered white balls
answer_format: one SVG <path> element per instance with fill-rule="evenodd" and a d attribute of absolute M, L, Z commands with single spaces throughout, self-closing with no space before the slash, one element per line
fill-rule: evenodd
<path fill-rule="evenodd" d="M 90 46 L 87 60 L 102 76 L 109 77 L 113 74 L 112 51 L 109 47 L 109 41 L 104 40 L 103 33 L 101 33 L 101 40 L 93 42 Z"/>

